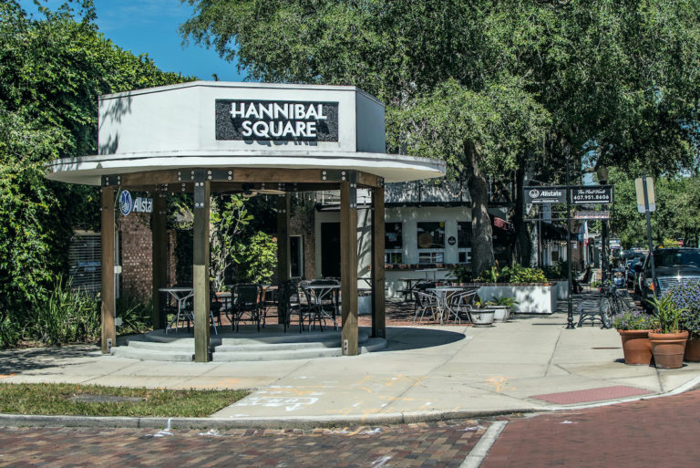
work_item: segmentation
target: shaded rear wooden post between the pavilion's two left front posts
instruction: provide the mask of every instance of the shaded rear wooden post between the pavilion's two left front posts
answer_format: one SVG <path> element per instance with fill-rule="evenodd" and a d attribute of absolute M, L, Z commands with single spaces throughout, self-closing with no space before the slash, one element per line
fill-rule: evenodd
<path fill-rule="evenodd" d="M 153 312 L 151 314 L 151 321 L 154 330 L 165 327 L 165 317 L 160 317 L 159 289 L 168 286 L 167 204 L 166 192 L 161 192 L 160 190 L 153 192 L 150 238 L 153 259 Z"/>

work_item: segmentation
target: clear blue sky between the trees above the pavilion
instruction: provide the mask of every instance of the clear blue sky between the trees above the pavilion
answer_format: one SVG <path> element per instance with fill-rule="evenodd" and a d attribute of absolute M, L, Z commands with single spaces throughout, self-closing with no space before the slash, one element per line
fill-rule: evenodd
<path fill-rule="evenodd" d="M 20 0 L 28 13 L 36 13 L 32 0 Z M 55 9 L 64 0 L 45 3 Z M 223 60 L 213 50 L 190 42 L 182 46 L 178 27 L 193 12 L 180 0 L 95 0 L 99 31 L 118 47 L 136 55 L 148 54 L 164 71 L 180 71 L 183 75 L 211 80 L 216 74 L 221 81 L 242 81 L 236 65 Z"/>

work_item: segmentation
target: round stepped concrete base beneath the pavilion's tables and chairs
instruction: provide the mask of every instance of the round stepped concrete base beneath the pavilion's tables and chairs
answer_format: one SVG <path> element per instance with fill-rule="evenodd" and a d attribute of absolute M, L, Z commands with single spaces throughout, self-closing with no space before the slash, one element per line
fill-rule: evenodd
<path fill-rule="evenodd" d="M 284 331 L 282 325 L 267 325 L 258 331 L 256 326 L 242 325 L 237 332 L 231 327 L 218 328 L 211 335 L 211 360 L 216 362 L 265 361 L 335 358 L 343 355 L 340 329 L 325 327 L 324 331 L 299 332 L 297 326 Z M 386 348 L 385 338 L 369 338 L 368 328 L 359 328 L 360 354 Z M 155 330 L 131 337 L 123 346 L 111 350 L 118 358 L 190 362 L 194 359 L 193 331 L 180 328 Z"/>

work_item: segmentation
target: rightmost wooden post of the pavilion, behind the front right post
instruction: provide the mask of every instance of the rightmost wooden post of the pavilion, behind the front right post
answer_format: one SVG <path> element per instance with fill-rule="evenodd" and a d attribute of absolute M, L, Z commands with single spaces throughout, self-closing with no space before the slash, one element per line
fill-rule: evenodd
<path fill-rule="evenodd" d="M 386 338 L 384 187 L 372 189 L 372 337 Z"/>

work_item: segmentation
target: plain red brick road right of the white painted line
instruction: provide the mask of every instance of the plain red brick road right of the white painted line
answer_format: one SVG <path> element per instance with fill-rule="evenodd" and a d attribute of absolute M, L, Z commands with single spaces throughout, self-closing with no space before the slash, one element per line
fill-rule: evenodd
<path fill-rule="evenodd" d="M 700 465 L 700 390 L 511 420 L 481 468 Z"/>

